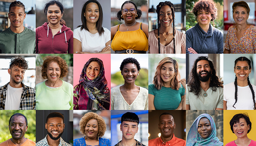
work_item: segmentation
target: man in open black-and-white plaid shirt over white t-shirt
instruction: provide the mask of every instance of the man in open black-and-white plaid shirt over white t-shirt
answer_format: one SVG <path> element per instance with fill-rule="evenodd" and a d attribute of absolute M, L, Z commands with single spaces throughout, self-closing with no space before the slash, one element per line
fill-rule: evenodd
<path fill-rule="evenodd" d="M 21 56 L 11 59 L 10 82 L 0 87 L 0 110 L 35 110 L 35 89 L 22 83 L 27 63 Z"/>

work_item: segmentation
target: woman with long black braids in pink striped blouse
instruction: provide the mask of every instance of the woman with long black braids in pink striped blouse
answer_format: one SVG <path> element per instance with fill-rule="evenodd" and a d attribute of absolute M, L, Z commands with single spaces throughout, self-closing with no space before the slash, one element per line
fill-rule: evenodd
<path fill-rule="evenodd" d="M 148 32 L 149 53 L 185 53 L 186 35 L 174 28 L 175 7 L 173 3 L 160 2 L 156 12 L 158 28 Z"/>

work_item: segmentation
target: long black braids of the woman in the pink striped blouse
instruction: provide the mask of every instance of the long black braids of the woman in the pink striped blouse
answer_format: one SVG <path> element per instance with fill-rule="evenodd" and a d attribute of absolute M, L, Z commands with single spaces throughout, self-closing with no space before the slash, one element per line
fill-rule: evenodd
<path fill-rule="evenodd" d="M 168 5 L 171 9 L 172 9 L 172 16 L 173 16 L 173 24 L 172 24 L 172 27 L 173 27 L 173 50 L 174 50 L 174 54 L 176 54 L 176 50 L 175 50 L 175 30 L 174 30 L 174 14 L 175 14 L 175 7 L 174 7 L 174 4 L 171 3 L 170 1 L 165 1 L 165 2 L 160 2 L 158 5 L 157 5 L 157 22 L 158 22 L 158 28 L 157 28 L 157 34 L 158 34 L 158 53 L 160 54 L 160 33 L 159 33 L 159 28 L 161 26 L 160 24 L 160 21 L 159 21 L 159 12 L 160 12 L 160 9 L 161 9 L 161 6 L 163 5 Z"/>

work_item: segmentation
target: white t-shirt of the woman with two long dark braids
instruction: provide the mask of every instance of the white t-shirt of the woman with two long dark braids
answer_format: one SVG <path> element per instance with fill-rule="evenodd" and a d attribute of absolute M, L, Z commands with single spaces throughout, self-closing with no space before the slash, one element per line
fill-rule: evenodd
<path fill-rule="evenodd" d="M 252 85 L 254 92 L 256 93 L 256 86 Z M 237 86 L 237 103 L 235 100 L 235 85 L 234 82 L 224 85 L 224 98 L 227 101 L 227 110 L 253 110 L 254 104 L 252 99 L 252 91 L 248 86 Z M 256 97 L 255 97 L 256 100 Z M 236 107 L 234 108 L 233 107 Z"/>

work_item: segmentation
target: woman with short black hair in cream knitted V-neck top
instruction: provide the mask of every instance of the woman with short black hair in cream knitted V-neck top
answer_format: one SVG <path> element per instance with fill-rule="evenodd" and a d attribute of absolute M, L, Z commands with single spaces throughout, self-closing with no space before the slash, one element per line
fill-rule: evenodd
<path fill-rule="evenodd" d="M 140 64 L 135 58 L 125 58 L 120 65 L 124 85 L 111 89 L 111 110 L 148 110 L 148 91 L 135 85 Z"/>

